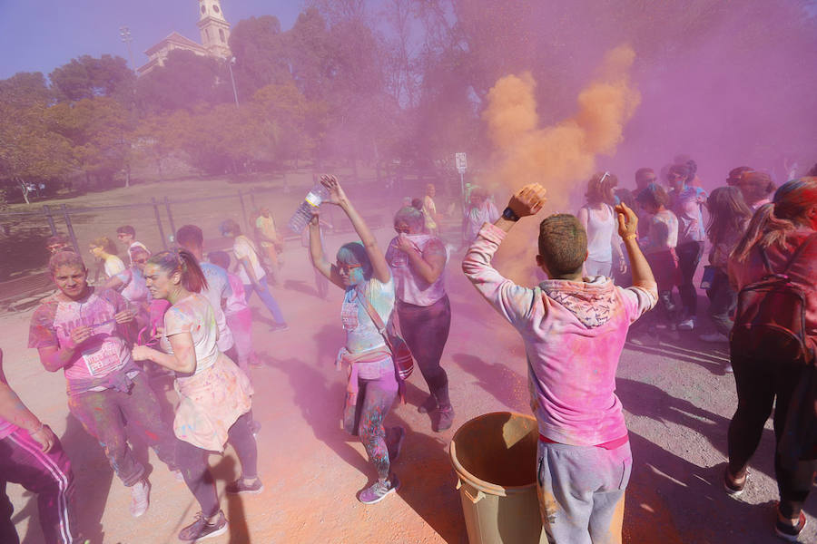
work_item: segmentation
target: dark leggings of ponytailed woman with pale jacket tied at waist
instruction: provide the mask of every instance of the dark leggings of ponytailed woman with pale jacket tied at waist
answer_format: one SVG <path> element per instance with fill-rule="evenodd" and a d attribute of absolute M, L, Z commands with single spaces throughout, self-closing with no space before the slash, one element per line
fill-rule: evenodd
<path fill-rule="evenodd" d="M 241 461 L 241 476 L 250 480 L 258 475 L 258 449 L 255 445 L 255 437 L 252 436 L 250 430 L 251 421 L 252 413 L 245 413 L 235 423 L 232 423 L 230 431 L 227 432 L 227 442 L 230 442 Z M 209 453 L 190 442 L 180 440 L 176 443 L 176 459 L 179 470 L 182 471 L 184 483 L 190 488 L 193 497 L 199 501 L 202 514 L 208 518 L 215 516 L 221 510 L 215 481 L 207 465 Z"/>

